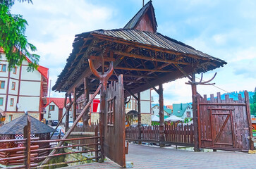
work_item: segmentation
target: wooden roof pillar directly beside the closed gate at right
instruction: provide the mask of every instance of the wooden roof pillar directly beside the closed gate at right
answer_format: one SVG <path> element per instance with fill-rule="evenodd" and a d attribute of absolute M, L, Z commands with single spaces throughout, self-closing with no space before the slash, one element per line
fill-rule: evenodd
<path fill-rule="evenodd" d="M 195 82 L 195 73 L 192 73 L 192 82 Z M 194 151 L 200 151 L 199 149 L 199 137 L 198 137 L 198 116 L 197 116 L 197 85 L 191 84 L 192 87 L 192 109 L 193 109 L 193 125 L 194 125 Z"/>

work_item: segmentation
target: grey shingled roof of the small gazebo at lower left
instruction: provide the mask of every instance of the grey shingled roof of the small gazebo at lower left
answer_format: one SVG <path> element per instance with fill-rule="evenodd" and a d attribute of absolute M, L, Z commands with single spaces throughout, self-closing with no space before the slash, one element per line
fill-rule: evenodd
<path fill-rule="evenodd" d="M 36 118 L 31 118 L 31 134 L 41 134 L 54 132 L 55 130 L 48 125 L 40 122 Z M 0 134 L 23 134 L 23 127 L 28 123 L 28 115 L 22 115 L 9 123 L 0 127 Z"/>

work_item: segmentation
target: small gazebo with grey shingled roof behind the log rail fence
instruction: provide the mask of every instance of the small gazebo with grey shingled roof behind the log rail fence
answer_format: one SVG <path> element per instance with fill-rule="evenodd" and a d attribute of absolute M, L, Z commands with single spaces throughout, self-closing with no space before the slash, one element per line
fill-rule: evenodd
<path fill-rule="evenodd" d="M 19 118 L 12 120 L 9 123 L 4 124 L 0 127 L 0 140 L 6 140 L 6 142 L 0 143 L 0 149 L 8 149 L 13 147 L 24 146 L 23 143 L 18 142 L 19 139 L 23 139 L 23 128 L 28 124 L 28 116 L 30 115 L 22 115 Z M 48 125 L 40 122 L 36 118 L 30 116 L 31 119 L 31 135 L 30 138 L 38 137 L 38 139 L 50 139 L 50 133 L 55 130 Z M 7 142 L 8 139 L 17 139 L 17 142 Z M 35 145 L 32 143 L 32 145 Z M 49 142 L 39 143 L 39 149 L 49 148 Z M 37 156 L 47 156 L 49 151 L 40 151 Z M 11 156 L 22 156 L 23 152 L 21 151 L 6 151 L 0 152 L 0 156 L 2 158 L 8 158 Z M 10 161 L 0 161 L 1 165 L 17 165 L 20 162 L 15 160 Z"/>

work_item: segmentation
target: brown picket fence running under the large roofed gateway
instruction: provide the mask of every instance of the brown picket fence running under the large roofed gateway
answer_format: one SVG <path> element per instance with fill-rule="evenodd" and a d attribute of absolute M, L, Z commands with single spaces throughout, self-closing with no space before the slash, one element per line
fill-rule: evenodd
<path fill-rule="evenodd" d="M 137 142 L 159 143 L 159 125 L 141 127 L 139 136 L 138 127 L 126 127 L 126 140 Z M 141 139 L 140 139 L 141 138 Z M 173 123 L 164 125 L 164 142 L 181 146 L 194 145 L 193 125 Z"/>

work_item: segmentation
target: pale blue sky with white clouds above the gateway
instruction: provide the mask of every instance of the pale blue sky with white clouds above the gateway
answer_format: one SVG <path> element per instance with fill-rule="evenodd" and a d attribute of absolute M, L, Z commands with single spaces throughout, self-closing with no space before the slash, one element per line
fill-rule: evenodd
<path fill-rule="evenodd" d="M 145 4 L 147 0 L 145 0 Z M 228 64 L 203 75 L 214 86 L 197 86 L 200 94 L 256 87 L 256 1 L 153 0 L 157 32 L 193 46 Z M 142 0 L 34 0 L 16 4 L 11 13 L 28 21 L 25 35 L 37 46 L 39 65 L 49 68 L 51 87 L 66 65 L 76 34 L 97 29 L 122 28 L 142 8 Z M 201 75 L 196 75 L 200 78 Z M 191 102 L 188 79 L 164 84 L 164 104 Z M 64 93 L 51 91 L 51 96 Z M 157 93 L 152 91 L 154 103 Z"/>

